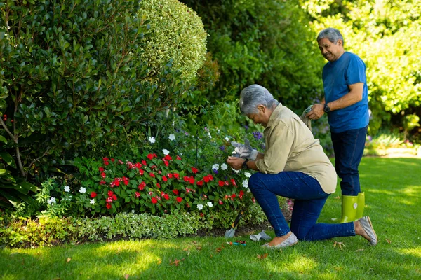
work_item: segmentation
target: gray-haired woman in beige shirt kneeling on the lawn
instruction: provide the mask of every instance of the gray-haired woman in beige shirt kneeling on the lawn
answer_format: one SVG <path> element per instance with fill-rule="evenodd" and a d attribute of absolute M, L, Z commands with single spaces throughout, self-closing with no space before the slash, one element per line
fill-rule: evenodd
<path fill-rule="evenodd" d="M 377 244 L 370 218 L 340 224 L 316 223 L 326 199 L 336 188 L 336 172 L 318 139 L 293 111 L 279 103 L 260 85 L 241 91 L 240 110 L 265 127 L 265 153 L 236 144 L 239 157 L 229 157 L 234 169 L 258 170 L 248 186 L 265 212 L 276 237 L 267 248 L 292 246 L 298 240 L 315 241 L 361 235 Z M 295 199 L 290 228 L 276 195 Z"/>

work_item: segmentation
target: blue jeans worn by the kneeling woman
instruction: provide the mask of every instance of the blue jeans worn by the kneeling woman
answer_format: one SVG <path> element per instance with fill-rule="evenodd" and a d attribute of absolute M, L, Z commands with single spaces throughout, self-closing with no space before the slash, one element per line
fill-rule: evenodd
<path fill-rule="evenodd" d="M 298 239 L 306 241 L 355 235 L 352 222 L 316 223 L 329 195 L 322 190 L 319 182 L 312 176 L 302 172 L 279 174 L 258 172 L 250 177 L 248 187 L 265 212 L 277 237 L 286 235 L 290 231 Z M 288 228 L 276 195 L 295 199 L 291 228 Z"/>

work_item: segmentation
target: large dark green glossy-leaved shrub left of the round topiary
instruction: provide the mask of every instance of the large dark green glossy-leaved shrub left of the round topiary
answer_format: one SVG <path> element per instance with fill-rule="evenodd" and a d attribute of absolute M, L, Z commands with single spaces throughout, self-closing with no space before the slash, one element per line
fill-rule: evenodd
<path fill-rule="evenodd" d="M 171 63 L 156 68 L 159 83 L 145 82 L 138 1 L 7 1 L 0 10 L 0 134 L 23 177 L 107 150 L 187 90 Z"/>

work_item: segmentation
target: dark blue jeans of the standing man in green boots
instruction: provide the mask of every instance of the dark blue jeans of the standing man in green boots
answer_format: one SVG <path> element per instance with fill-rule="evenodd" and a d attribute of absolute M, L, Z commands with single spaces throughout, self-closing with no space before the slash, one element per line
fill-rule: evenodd
<path fill-rule="evenodd" d="M 367 127 L 331 133 L 335 151 L 335 170 L 340 181 L 342 195 L 356 196 L 361 193 L 358 166 L 366 144 Z"/>

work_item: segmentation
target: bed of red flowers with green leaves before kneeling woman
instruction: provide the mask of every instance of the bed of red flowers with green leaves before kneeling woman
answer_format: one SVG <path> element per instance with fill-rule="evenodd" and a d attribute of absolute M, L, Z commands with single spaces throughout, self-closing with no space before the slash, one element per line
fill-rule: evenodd
<path fill-rule="evenodd" d="M 164 214 L 177 209 L 204 215 L 255 202 L 248 190 L 249 173 L 234 171 L 225 163 L 199 170 L 166 149 L 144 152 L 135 160 L 82 158 L 76 166 L 85 175 L 81 189 L 89 196 L 83 196 L 82 204 L 91 214 Z"/>

